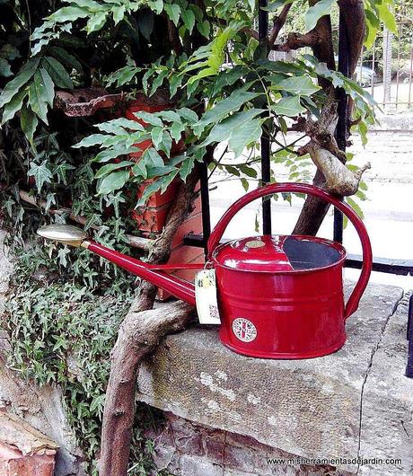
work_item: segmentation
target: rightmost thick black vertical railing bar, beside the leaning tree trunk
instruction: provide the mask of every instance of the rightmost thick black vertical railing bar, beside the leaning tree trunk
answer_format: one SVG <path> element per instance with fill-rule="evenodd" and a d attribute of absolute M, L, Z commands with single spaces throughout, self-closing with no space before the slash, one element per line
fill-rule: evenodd
<path fill-rule="evenodd" d="M 342 13 L 338 25 L 338 71 L 348 77 L 348 32 Z M 347 105 L 348 97 L 343 88 L 338 89 L 338 123 L 336 139 L 338 148 L 346 150 L 347 143 Z M 333 237 L 336 242 L 343 242 L 343 214 L 334 209 Z"/>

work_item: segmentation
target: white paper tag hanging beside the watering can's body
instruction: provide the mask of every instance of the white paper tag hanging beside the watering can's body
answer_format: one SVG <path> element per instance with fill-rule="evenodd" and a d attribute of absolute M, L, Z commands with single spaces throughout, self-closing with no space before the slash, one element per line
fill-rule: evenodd
<path fill-rule="evenodd" d="M 216 298 L 215 269 L 202 269 L 195 278 L 195 297 L 201 324 L 220 324 Z"/>

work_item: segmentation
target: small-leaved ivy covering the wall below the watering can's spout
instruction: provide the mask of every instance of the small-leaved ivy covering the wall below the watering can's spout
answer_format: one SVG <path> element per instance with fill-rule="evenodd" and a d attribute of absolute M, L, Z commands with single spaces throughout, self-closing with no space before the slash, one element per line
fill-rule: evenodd
<path fill-rule="evenodd" d="M 14 275 L 4 322 L 12 345 L 8 366 L 40 386 L 60 386 L 68 423 L 84 452 L 85 470 L 97 475 L 95 458 L 110 370 L 108 357 L 118 324 L 131 303 L 132 290 L 116 296 L 99 296 L 70 281 L 44 282 L 44 269 L 40 267 L 34 275 L 32 270 L 42 263 L 49 264 L 48 257 L 36 250 L 28 268 L 26 252 Z M 49 277 L 50 273 L 46 279 Z M 141 423 L 140 429 L 136 426 L 134 431 L 131 458 L 134 469 L 128 474 L 145 475 L 154 471 L 154 445 L 142 435 L 142 419 L 144 428 L 149 428 L 158 417 L 144 406 L 138 408 L 138 416 Z"/>

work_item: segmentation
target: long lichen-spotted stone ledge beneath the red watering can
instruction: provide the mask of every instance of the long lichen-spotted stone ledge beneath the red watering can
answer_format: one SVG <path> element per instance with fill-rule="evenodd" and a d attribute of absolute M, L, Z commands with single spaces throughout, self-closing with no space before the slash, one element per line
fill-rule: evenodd
<path fill-rule="evenodd" d="M 219 343 L 215 329 L 171 335 L 141 366 L 138 397 L 196 424 L 250 436 L 303 457 L 374 457 L 386 448 L 391 448 L 388 457 L 411 453 L 413 429 L 403 434 L 399 424 L 402 419 L 406 427 L 413 409 L 413 382 L 401 366 L 407 317 L 400 311 L 394 324 L 390 319 L 401 296 L 397 287 L 368 286 L 358 312 L 347 322 L 344 348 L 316 359 L 242 357 Z M 398 364 L 390 365 L 381 344 L 393 327 L 398 345 L 388 346 Z M 358 469 L 356 464 L 338 467 Z M 406 459 L 389 471 L 405 474 L 409 469 Z"/>

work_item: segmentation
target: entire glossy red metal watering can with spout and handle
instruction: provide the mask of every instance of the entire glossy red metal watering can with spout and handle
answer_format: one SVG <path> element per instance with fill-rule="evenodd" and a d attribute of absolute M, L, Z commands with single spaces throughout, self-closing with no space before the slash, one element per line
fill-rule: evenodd
<path fill-rule="evenodd" d="M 304 235 L 264 235 L 219 244 L 233 216 L 251 201 L 281 192 L 326 200 L 356 227 L 363 268 L 344 304 L 342 272 L 346 250 L 338 242 Z M 202 265 L 151 265 L 86 240 L 74 226 L 48 225 L 40 236 L 83 246 L 120 267 L 195 305 L 195 287 L 165 270 Z M 230 207 L 208 240 L 206 268 L 215 269 L 223 344 L 250 357 L 310 358 L 344 345 L 347 317 L 356 312 L 372 270 L 372 248 L 356 212 L 326 191 L 303 183 L 270 184 L 247 193 Z"/>

